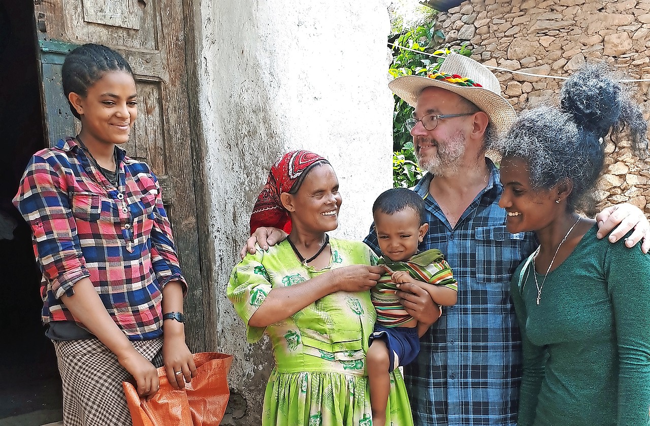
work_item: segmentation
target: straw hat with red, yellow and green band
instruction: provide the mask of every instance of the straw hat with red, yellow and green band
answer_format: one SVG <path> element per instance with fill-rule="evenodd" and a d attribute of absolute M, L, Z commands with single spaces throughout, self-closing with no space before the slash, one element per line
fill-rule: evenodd
<path fill-rule="evenodd" d="M 517 118 L 512 105 L 501 95 L 497 77 L 482 64 L 458 53 L 447 55 L 435 74 L 404 75 L 391 81 L 388 87 L 413 107 L 425 88 L 439 87 L 454 92 L 485 112 L 497 134 L 507 132 Z"/>

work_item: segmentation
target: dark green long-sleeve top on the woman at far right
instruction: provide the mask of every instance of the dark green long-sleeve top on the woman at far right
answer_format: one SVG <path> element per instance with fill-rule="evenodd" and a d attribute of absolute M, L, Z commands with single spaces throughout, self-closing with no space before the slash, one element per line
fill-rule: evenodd
<path fill-rule="evenodd" d="M 596 230 L 547 275 L 539 305 L 532 262 L 513 275 L 518 426 L 650 425 L 650 256 Z"/>

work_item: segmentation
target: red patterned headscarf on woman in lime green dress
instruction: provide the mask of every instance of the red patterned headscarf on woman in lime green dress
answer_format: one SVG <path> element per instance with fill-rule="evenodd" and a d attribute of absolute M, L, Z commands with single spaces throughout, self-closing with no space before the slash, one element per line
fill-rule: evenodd
<path fill-rule="evenodd" d="M 283 207 L 280 194 L 289 192 L 300 175 L 317 163 L 330 164 L 324 157 L 310 151 L 291 151 L 276 161 L 250 215 L 251 234 L 259 227 L 279 228 L 287 234 L 291 232 L 291 216 Z"/>

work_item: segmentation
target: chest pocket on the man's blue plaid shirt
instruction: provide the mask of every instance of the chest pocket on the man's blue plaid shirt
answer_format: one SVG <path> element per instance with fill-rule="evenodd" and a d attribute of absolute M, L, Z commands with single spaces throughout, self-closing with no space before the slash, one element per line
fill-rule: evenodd
<path fill-rule="evenodd" d="M 476 281 L 499 285 L 510 282 L 521 262 L 523 243 L 523 232 L 511 234 L 504 225 L 477 227 L 474 232 Z"/>

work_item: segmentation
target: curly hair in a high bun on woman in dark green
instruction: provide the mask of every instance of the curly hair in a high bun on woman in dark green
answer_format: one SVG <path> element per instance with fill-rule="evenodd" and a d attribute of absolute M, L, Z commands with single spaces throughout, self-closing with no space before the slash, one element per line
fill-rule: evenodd
<path fill-rule="evenodd" d="M 629 90 L 604 64 L 586 64 L 562 86 L 559 106 L 546 103 L 523 112 L 497 150 L 504 159 L 526 162 L 533 188 L 573 182 L 567 208 L 584 209 L 603 170 L 606 136 L 617 146 L 627 134 L 632 150 L 644 157 L 646 132 Z"/>

